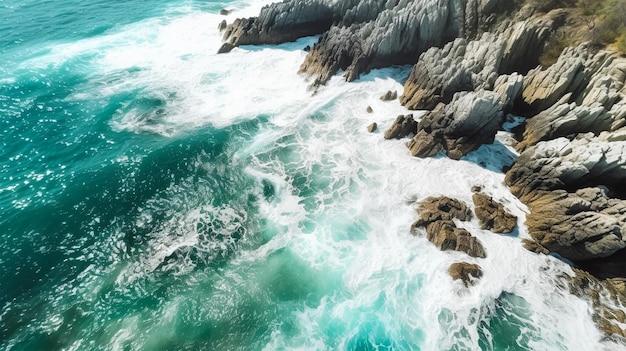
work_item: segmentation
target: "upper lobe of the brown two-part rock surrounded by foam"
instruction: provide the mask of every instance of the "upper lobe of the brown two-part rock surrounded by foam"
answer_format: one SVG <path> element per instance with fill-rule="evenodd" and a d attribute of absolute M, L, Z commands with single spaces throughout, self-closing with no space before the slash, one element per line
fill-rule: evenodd
<path fill-rule="evenodd" d="M 420 218 L 414 227 L 425 227 L 435 221 L 450 221 L 453 218 L 467 221 L 472 218 L 472 211 L 463 202 L 446 196 L 428 197 L 418 207 Z"/>

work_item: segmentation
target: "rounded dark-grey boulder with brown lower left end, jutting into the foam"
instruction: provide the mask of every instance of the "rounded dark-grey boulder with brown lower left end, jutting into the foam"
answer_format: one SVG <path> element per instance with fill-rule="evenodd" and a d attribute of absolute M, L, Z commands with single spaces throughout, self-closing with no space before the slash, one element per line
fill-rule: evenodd
<path fill-rule="evenodd" d="M 457 93 L 450 104 L 440 104 L 422 117 L 408 144 L 411 154 L 429 157 L 445 149 L 448 157 L 459 159 L 492 143 L 504 119 L 502 108 L 494 92 Z"/>

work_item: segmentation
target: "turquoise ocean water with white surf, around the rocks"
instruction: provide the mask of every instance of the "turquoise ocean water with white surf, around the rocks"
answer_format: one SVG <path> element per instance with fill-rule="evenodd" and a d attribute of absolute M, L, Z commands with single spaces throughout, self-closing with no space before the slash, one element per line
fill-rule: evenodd
<path fill-rule="evenodd" d="M 217 55 L 219 22 L 268 2 L 0 1 L 0 349 L 615 347 L 523 225 L 463 224 L 486 259 L 410 233 L 416 201 L 474 185 L 523 223 L 506 133 L 413 158 L 379 99 L 410 66 L 313 94 L 315 37 Z"/>

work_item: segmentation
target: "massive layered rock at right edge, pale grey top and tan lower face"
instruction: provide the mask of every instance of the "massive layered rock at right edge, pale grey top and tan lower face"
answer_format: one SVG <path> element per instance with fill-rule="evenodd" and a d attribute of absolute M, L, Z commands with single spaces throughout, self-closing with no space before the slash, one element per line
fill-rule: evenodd
<path fill-rule="evenodd" d="M 625 155 L 624 132 L 559 138 L 522 153 L 505 180 L 531 211 L 531 237 L 581 263 L 626 248 Z M 626 265 L 616 269 L 626 276 Z"/>

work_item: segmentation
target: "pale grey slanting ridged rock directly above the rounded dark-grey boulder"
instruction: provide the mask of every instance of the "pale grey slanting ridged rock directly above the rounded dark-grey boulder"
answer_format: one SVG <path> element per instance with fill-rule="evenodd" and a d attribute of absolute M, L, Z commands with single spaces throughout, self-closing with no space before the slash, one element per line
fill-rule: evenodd
<path fill-rule="evenodd" d="M 413 66 L 401 103 L 409 109 L 430 110 L 440 102 L 447 104 L 457 92 L 493 89 L 498 75 L 537 61 L 555 17 L 533 18 L 501 33 L 483 33 L 473 41 L 458 38 L 443 48 L 427 50 Z M 517 99 L 521 80 L 520 75 L 512 74 L 497 81 L 496 91 L 505 105 Z"/>

